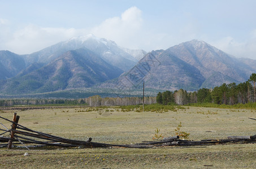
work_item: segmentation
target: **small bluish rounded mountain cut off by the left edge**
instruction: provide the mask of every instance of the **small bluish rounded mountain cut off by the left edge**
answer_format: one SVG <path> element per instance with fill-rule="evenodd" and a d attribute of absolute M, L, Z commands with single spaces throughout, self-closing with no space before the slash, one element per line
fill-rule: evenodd
<path fill-rule="evenodd" d="M 14 77 L 24 68 L 23 57 L 10 51 L 0 51 L 0 79 Z"/>

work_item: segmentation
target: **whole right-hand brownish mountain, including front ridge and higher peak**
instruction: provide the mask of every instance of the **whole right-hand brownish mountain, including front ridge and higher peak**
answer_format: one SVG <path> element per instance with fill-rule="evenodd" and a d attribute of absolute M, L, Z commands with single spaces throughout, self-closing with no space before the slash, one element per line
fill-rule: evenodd
<path fill-rule="evenodd" d="M 206 42 L 192 40 L 167 50 L 151 51 L 129 72 L 96 87 L 141 88 L 144 81 L 148 88 L 195 91 L 245 82 L 256 72 L 253 63 L 255 60 L 237 59 Z"/>

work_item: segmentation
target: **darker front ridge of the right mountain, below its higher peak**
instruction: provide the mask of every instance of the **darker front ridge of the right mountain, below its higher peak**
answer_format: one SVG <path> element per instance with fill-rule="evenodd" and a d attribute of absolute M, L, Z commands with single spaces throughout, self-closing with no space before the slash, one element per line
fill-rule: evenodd
<path fill-rule="evenodd" d="M 183 60 L 159 50 L 147 54 L 129 72 L 117 79 L 102 83 L 102 88 L 140 88 L 145 82 L 147 88 L 196 90 L 205 81 L 199 70 Z"/>

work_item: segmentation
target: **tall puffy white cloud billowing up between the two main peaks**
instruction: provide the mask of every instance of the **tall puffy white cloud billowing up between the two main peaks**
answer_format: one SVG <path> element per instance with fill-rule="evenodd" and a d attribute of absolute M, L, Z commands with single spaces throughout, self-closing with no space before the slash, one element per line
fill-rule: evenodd
<path fill-rule="evenodd" d="M 173 35 L 166 32 L 155 32 L 154 23 L 146 27 L 142 11 L 137 7 L 128 8 L 119 17 L 112 17 L 92 28 L 97 37 L 115 41 L 119 46 L 146 51 L 166 49 L 173 44 Z M 151 26 L 153 28 L 151 28 Z M 176 44 L 173 44 L 176 45 Z"/>

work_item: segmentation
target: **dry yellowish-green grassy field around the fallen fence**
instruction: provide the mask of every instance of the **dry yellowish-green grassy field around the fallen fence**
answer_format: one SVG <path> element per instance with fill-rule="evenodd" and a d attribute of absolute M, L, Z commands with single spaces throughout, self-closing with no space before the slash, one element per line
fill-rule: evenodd
<path fill-rule="evenodd" d="M 90 112 L 88 112 L 88 110 Z M 93 111 L 91 111 L 93 110 Z M 12 111 L 2 117 L 12 119 Z M 185 107 L 164 113 L 122 112 L 118 107 L 92 109 L 37 109 L 17 112 L 19 123 L 33 130 L 70 139 L 110 144 L 152 141 L 155 129 L 163 136 L 189 132 L 189 140 L 227 139 L 255 135 L 256 110 Z M 5 126 L 10 126 L 0 119 Z M 0 126 L 2 127 L 2 126 Z M 79 149 L 43 147 L 42 150 L 0 148 L 0 168 L 256 168 L 256 144 L 169 146 L 155 149 Z M 27 152 L 29 155 L 24 156 Z"/>

